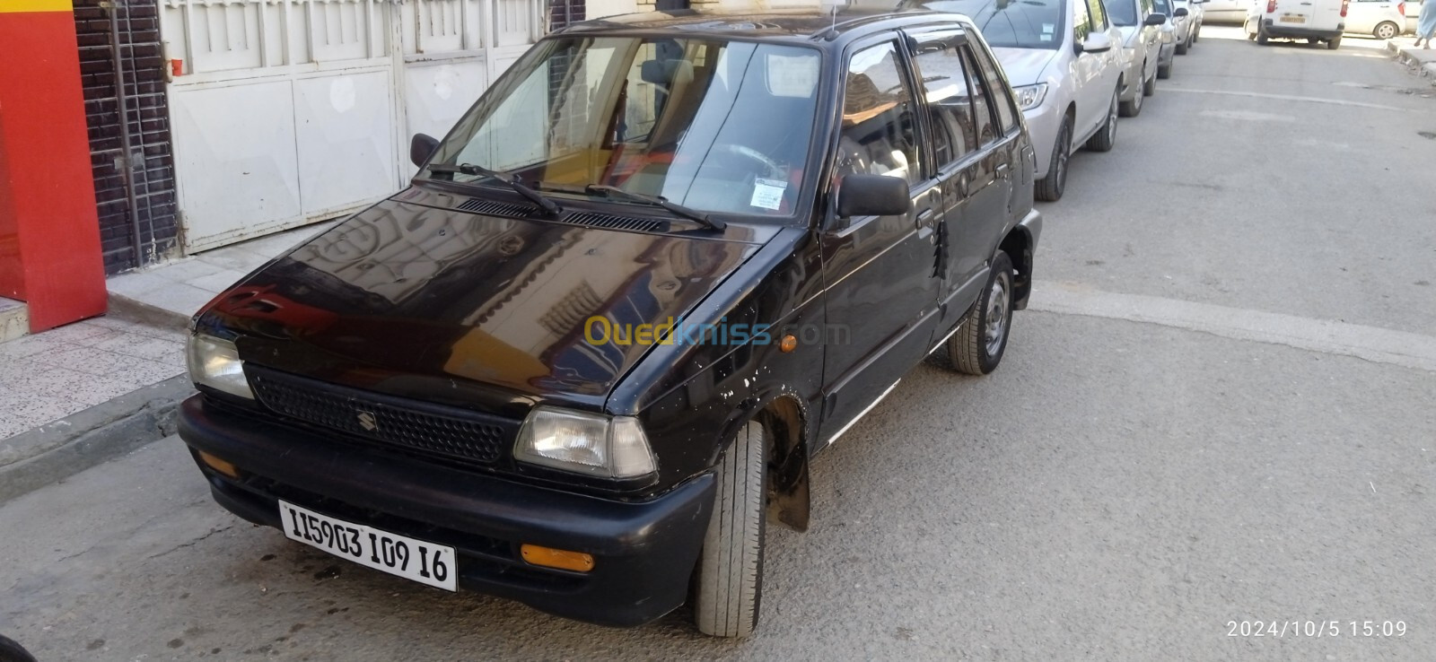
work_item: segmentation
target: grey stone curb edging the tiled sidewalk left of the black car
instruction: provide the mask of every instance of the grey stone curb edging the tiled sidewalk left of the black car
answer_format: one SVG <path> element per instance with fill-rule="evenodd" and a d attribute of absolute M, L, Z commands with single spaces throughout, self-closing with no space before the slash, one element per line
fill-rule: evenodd
<path fill-rule="evenodd" d="M 190 376 L 175 375 L 0 439 L 0 503 L 175 434 L 175 411 L 191 393 Z"/>

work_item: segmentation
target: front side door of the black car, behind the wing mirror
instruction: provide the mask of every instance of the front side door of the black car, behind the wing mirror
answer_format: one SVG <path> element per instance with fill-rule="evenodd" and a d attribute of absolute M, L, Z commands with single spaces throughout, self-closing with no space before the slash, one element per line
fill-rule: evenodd
<path fill-rule="evenodd" d="M 906 180 L 905 215 L 830 218 L 820 233 L 827 329 L 821 435 L 833 439 L 890 391 L 928 350 L 936 322 L 936 220 L 942 190 L 922 146 L 920 106 L 898 33 L 850 47 L 833 191 L 841 178 Z M 836 197 L 829 202 L 830 210 Z"/>

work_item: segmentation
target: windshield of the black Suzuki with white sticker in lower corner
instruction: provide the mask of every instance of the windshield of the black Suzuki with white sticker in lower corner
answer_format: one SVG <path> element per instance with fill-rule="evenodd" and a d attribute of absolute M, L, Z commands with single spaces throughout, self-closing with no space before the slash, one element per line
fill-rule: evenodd
<path fill-rule="evenodd" d="M 707 213 L 796 211 L 820 52 L 724 39 L 540 42 L 455 125 L 421 177 Z M 455 172 L 460 171 L 460 172 Z"/>

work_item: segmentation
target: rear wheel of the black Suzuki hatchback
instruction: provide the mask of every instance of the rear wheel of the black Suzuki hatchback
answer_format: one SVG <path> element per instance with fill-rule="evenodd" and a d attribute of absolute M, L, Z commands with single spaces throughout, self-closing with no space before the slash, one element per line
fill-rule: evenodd
<path fill-rule="evenodd" d="M 948 360 L 965 375 L 987 375 L 997 369 L 1007 352 L 1012 330 L 1012 260 L 997 251 L 992 273 L 982 296 L 972 304 L 968 319 L 948 339 Z"/>

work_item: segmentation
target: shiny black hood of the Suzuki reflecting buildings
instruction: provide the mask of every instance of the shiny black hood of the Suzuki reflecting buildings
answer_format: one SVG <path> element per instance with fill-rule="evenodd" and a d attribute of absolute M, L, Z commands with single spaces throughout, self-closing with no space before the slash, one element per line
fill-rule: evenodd
<path fill-rule="evenodd" d="M 679 319 L 761 246 L 737 224 L 620 231 L 455 208 L 465 201 L 411 190 L 379 202 L 221 293 L 197 326 L 237 335 L 247 363 L 330 383 L 602 408 L 651 346 L 590 343 L 590 319 Z"/>

